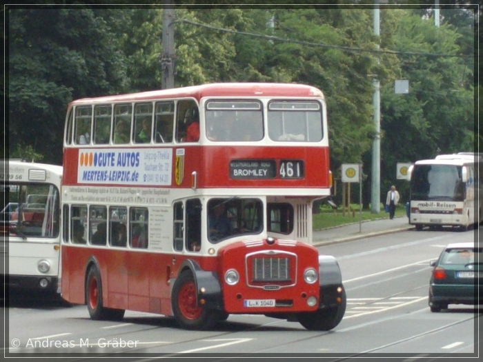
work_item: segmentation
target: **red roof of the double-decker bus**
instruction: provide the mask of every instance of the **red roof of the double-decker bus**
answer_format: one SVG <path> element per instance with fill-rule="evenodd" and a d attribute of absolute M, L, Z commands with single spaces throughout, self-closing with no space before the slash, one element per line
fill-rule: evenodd
<path fill-rule="evenodd" d="M 106 97 L 84 98 L 72 101 L 70 105 L 83 103 L 108 103 L 116 101 L 151 101 L 193 97 L 199 101 L 204 97 L 308 97 L 324 98 L 321 90 L 296 83 L 209 83 L 200 86 L 188 86 L 165 90 L 152 90 Z"/>

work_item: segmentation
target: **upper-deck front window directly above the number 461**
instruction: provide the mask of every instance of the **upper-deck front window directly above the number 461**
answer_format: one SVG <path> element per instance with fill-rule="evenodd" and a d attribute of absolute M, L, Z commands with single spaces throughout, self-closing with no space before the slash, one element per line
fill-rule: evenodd
<path fill-rule="evenodd" d="M 317 101 L 268 103 L 268 137 L 273 141 L 322 141 L 322 107 Z"/>

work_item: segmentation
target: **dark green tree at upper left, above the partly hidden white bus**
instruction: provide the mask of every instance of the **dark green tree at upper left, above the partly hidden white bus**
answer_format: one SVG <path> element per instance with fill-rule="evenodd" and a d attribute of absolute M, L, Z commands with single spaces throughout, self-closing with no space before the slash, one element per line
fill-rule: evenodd
<path fill-rule="evenodd" d="M 72 99 L 126 88 L 126 61 L 105 19 L 90 9 L 9 7 L 9 145 L 62 162 Z"/>

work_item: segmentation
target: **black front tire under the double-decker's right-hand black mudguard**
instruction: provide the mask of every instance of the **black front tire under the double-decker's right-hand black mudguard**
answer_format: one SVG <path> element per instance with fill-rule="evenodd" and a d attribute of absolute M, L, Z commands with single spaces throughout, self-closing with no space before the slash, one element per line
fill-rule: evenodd
<path fill-rule="evenodd" d="M 326 308 L 311 313 L 299 313 L 297 319 L 308 330 L 332 330 L 342 321 L 346 312 L 346 291 L 342 291 L 342 303 L 335 308 Z"/>

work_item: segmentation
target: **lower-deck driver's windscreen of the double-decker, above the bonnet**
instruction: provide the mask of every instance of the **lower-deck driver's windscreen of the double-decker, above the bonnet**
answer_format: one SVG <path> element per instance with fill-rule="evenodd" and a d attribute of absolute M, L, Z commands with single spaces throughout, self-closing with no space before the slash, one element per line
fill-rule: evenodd
<path fill-rule="evenodd" d="M 263 203 L 260 199 L 210 199 L 208 240 L 211 243 L 263 230 Z"/>

